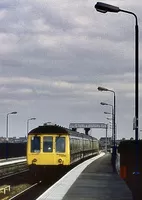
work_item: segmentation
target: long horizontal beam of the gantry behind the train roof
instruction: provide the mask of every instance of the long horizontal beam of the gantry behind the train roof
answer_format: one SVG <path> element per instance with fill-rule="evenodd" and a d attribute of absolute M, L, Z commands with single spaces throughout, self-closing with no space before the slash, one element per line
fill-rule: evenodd
<path fill-rule="evenodd" d="M 105 123 L 70 123 L 69 128 L 103 128 L 106 129 Z"/>

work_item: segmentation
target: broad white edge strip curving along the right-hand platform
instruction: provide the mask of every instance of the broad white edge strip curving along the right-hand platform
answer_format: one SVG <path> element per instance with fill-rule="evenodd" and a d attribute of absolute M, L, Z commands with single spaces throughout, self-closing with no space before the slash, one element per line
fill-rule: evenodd
<path fill-rule="evenodd" d="M 100 153 L 100 155 L 95 156 L 75 168 L 69 171 L 65 176 L 63 176 L 59 181 L 57 181 L 54 185 L 52 185 L 48 190 L 46 190 L 41 196 L 37 198 L 37 200 L 61 200 L 72 186 L 72 184 L 76 181 L 81 172 L 93 161 L 98 158 L 104 156 L 105 153 Z"/>

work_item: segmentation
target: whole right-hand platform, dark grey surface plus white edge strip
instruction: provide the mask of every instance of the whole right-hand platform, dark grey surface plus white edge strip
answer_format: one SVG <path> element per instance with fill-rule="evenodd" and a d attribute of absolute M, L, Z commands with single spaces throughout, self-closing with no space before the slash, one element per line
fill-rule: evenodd
<path fill-rule="evenodd" d="M 37 200 L 133 199 L 126 183 L 117 173 L 113 172 L 111 154 L 101 153 L 101 155 L 85 161 L 84 164 L 80 164 L 76 168 L 77 171 L 76 169 L 71 170 Z M 79 169 L 82 171 L 80 172 Z"/>

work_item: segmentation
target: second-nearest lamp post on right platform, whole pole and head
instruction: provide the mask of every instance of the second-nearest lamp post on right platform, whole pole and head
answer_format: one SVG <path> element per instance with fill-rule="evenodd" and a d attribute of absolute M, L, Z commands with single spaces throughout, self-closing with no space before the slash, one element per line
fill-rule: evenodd
<path fill-rule="evenodd" d="M 112 152 L 112 164 L 113 164 L 113 170 L 115 171 L 115 160 L 116 160 L 116 141 L 115 141 L 115 115 L 116 115 L 116 97 L 115 97 L 115 91 L 110 90 L 108 88 L 104 87 L 98 87 L 98 90 L 103 92 L 112 92 L 113 93 L 113 152 Z"/>

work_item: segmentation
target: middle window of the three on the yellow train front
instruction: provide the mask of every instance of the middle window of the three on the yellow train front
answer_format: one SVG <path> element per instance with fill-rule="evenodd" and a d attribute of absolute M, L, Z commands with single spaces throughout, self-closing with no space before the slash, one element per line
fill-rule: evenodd
<path fill-rule="evenodd" d="M 43 152 L 53 151 L 53 137 L 45 136 L 43 137 Z"/>

